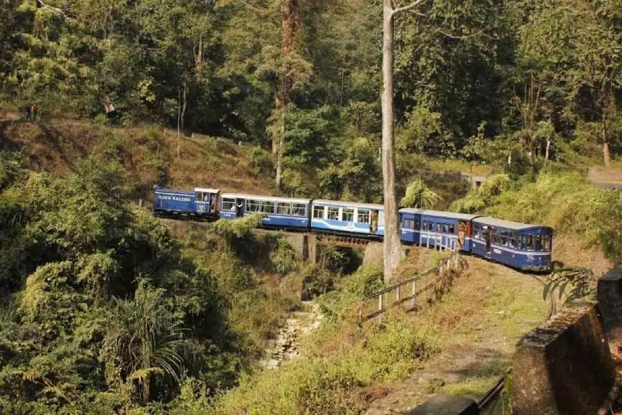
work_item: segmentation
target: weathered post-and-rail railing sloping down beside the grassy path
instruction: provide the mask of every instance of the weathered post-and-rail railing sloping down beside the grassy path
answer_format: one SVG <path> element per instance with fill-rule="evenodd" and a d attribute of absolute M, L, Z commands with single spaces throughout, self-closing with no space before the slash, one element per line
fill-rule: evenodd
<path fill-rule="evenodd" d="M 451 255 L 441 259 L 439 264 L 434 268 L 362 298 L 359 302 L 359 321 L 366 322 L 373 317 L 377 317 L 378 322 L 382 322 L 382 314 L 384 312 L 388 311 L 390 308 L 404 304 L 405 302 L 411 302 L 410 309 L 414 310 L 417 308 L 417 297 L 437 286 L 438 283 L 446 282 L 450 271 L 459 272 L 462 269 L 460 266 L 460 246 L 451 243 L 451 249 L 444 246 L 440 246 L 440 248 L 442 250 L 449 250 Z M 435 278 L 428 281 L 432 275 L 435 276 Z M 386 297 L 390 295 L 390 293 L 395 293 L 393 302 L 387 301 Z M 406 295 L 403 296 L 404 294 Z M 376 298 L 378 300 L 377 310 L 364 315 L 364 306 L 366 302 Z"/>

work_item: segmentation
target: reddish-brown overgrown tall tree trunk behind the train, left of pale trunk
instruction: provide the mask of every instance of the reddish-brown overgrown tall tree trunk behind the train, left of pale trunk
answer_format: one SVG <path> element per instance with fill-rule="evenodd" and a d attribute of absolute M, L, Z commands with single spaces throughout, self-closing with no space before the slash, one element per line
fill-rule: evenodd
<path fill-rule="evenodd" d="M 287 62 L 287 56 L 296 51 L 299 46 L 299 0 L 281 0 L 281 52 L 283 58 Z M 272 138 L 272 154 L 276 154 L 276 187 L 281 187 L 281 178 L 283 174 L 283 146 L 285 136 L 285 107 L 290 102 L 290 93 L 292 91 L 292 73 L 289 64 L 283 66 L 281 74 L 281 91 L 277 93 L 276 98 L 276 114 L 281 117 L 281 125 L 279 126 L 279 134 Z"/>

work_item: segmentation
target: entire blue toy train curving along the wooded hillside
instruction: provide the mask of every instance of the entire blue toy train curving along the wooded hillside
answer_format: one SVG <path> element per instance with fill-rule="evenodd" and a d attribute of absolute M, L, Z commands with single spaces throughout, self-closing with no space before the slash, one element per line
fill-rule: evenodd
<path fill-rule="evenodd" d="M 382 239 L 384 205 L 323 199 L 297 199 L 253 194 L 220 194 L 217 189 L 194 191 L 155 187 L 158 215 L 188 215 L 207 220 L 264 214 L 265 228 L 307 230 L 342 236 Z M 402 208 L 403 243 L 460 248 L 520 270 L 546 271 L 551 266 L 553 230 L 490 216 Z"/>

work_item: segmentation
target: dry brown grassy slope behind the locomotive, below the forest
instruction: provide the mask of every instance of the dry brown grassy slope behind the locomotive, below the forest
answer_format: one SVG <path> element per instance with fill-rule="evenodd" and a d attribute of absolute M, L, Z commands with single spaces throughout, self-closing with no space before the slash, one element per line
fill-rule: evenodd
<path fill-rule="evenodd" d="M 22 122 L 17 113 L 0 111 L 0 151 L 19 150 L 30 169 L 62 173 L 89 154 L 112 154 L 137 185 L 136 197 L 150 199 L 153 185 L 217 187 L 229 192 L 273 192 L 269 178 L 249 165 L 247 147 L 216 138 L 178 140 L 161 127 L 104 127 L 54 118 Z"/>

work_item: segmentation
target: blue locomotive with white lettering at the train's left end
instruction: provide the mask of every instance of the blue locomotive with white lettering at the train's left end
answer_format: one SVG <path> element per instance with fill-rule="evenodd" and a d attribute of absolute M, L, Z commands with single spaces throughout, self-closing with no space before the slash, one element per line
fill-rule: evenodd
<path fill-rule="evenodd" d="M 153 210 L 159 215 L 201 216 L 214 219 L 218 189 L 195 187 L 194 190 L 164 189 L 153 186 Z"/>

